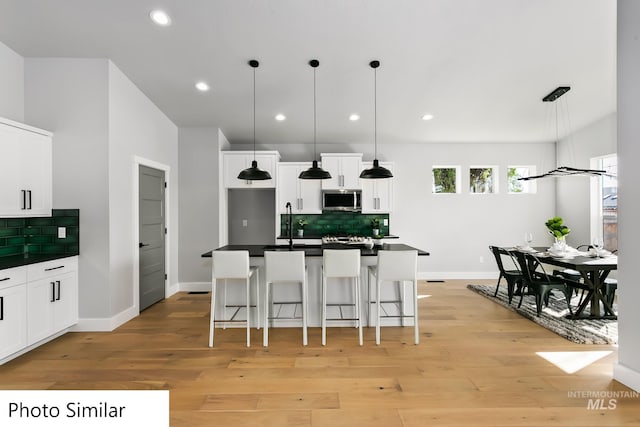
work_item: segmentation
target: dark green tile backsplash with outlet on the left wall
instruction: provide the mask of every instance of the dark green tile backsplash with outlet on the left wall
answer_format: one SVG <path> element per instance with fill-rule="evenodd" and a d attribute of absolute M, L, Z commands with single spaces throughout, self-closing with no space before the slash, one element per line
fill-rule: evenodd
<path fill-rule="evenodd" d="M 66 238 L 58 238 L 58 227 L 66 227 Z M 25 253 L 80 253 L 80 210 L 53 209 L 44 218 L 0 218 L 0 256 Z"/>

